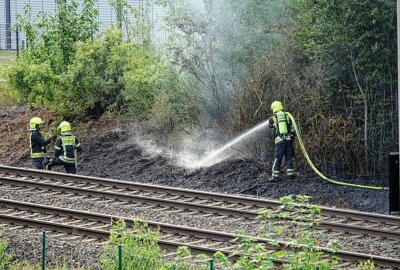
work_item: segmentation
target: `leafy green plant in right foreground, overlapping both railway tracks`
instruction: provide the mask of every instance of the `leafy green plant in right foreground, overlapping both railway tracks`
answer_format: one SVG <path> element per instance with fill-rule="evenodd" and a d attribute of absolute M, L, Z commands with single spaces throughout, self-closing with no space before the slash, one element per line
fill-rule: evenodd
<path fill-rule="evenodd" d="M 228 269 L 274 269 L 276 260 L 283 261 L 281 269 L 335 269 L 340 259 L 314 247 L 316 233 L 312 226 L 318 224 L 320 209 L 309 204 L 309 199 L 309 196 L 301 195 L 282 197 L 282 206 L 278 210 L 266 210 L 260 216 L 266 231 L 274 231 L 280 226 L 273 238 L 288 243 L 285 250 L 273 251 L 277 242 L 268 245 L 257 243 L 244 232 L 239 232 L 236 253 L 240 259 L 230 263 L 222 254 L 216 254 L 216 260 Z M 277 221 L 275 218 L 285 220 Z M 303 221 L 304 218 L 307 220 Z"/>

